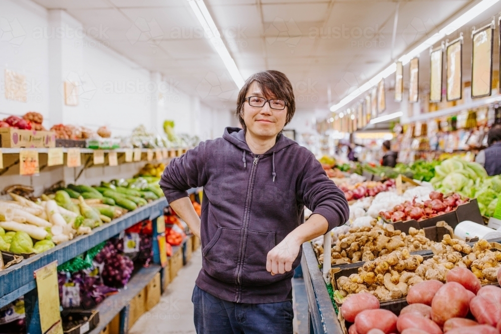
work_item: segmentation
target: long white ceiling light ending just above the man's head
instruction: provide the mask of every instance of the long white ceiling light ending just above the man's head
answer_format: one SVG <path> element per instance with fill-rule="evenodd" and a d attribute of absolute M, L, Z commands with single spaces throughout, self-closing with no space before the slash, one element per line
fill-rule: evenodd
<path fill-rule="evenodd" d="M 207 7 L 205 7 L 203 0 L 189 0 L 189 5 L 195 13 L 198 22 L 202 25 L 205 34 L 209 37 L 212 46 L 219 54 L 219 57 L 221 57 L 226 70 L 228 70 L 229 75 L 235 82 L 236 86 L 238 89 L 242 88 L 244 80 L 236 67 L 235 61 L 231 58 L 228 49 L 226 49 L 226 46 L 221 39 L 221 34 L 219 34 L 219 31 L 214 24 L 214 20 L 212 20 L 212 17 L 210 16 Z"/>

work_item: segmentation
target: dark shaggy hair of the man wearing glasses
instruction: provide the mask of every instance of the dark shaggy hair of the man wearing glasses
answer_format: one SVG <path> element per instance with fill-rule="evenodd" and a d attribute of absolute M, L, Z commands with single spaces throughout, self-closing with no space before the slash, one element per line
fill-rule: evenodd
<path fill-rule="evenodd" d="M 250 76 L 245 81 L 242 89 L 240 89 L 240 93 L 238 93 L 235 115 L 242 125 L 243 130 L 247 130 L 245 122 L 243 121 L 243 105 L 245 104 L 245 95 L 247 94 L 247 91 L 253 82 L 256 82 L 258 84 L 265 98 L 270 99 L 274 97 L 277 99 L 282 99 L 286 102 L 287 118 L 285 120 L 285 124 L 287 125 L 296 112 L 296 102 L 294 101 L 292 84 L 289 79 L 287 79 L 286 75 L 282 72 L 269 70 L 258 72 Z"/>

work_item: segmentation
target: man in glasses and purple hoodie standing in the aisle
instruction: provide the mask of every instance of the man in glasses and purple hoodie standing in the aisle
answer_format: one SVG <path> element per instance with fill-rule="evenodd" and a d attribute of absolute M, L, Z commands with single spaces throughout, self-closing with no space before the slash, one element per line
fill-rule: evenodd
<path fill-rule="evenodd" d="M 226 128 L 173 159 L 160 185 L 202 241 L 192 301 L 201 333 L 292 333 L 293 269 L 303 242 L 348 220 L 344 194 L 315 156 L 280 132 L 294 115 L 292 85 L 278 71 L 245 82 Z M 186 190 L 203 186 L 201 221 Z M 304 223 L 304 206 L 313 211 Z"/>

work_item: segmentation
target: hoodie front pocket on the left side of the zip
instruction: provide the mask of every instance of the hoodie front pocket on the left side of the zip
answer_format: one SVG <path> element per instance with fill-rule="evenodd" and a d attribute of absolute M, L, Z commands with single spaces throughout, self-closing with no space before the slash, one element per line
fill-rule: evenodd
<path fill-rule="evenodd" d="M 241 229 L 218 227 L 214 237 L 203 248 L 202 266 L 212 277 L 235 282 Z"/>

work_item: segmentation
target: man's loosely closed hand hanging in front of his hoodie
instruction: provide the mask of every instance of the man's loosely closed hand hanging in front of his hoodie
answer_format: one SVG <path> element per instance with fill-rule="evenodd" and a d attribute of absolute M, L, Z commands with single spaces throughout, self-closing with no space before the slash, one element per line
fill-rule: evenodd
<path fill-rule="evenodd" d="M 276 274 L 284 274 L 292 270 L 292 263 L 298 257 L 301 242 L 288 235 L 281 243 L 273 247 L 266 257 L 266 270 Z"/>

